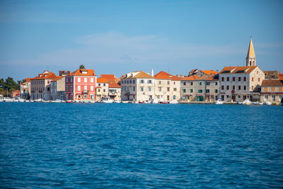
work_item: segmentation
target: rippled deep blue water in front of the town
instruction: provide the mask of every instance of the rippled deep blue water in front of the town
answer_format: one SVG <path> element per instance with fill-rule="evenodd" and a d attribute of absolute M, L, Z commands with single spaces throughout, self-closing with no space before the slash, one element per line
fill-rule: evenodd
<path fill-rule="evenodd" d="M 283 106 L 0 103 L 0 188 L 282 188 Z"/>

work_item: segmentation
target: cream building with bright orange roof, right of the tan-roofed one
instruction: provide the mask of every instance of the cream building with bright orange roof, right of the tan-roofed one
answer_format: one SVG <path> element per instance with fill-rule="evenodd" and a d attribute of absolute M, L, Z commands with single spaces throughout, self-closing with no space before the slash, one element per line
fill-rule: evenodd
<path fill-rule="evenodd" d="M 163 101 L 180 101 L 180 77 L 160 71 L 155 76 L 155 97 Z"/>

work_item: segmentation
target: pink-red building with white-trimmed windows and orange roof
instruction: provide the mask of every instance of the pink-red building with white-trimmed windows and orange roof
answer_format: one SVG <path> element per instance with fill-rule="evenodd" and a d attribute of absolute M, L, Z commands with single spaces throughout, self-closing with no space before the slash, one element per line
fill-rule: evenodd
<path fill-rule="evenodd" d="M 66 99 L 71 101 L 96 100 L 96 73 L 93 69 L 77 69 L 65 79 Z"/>

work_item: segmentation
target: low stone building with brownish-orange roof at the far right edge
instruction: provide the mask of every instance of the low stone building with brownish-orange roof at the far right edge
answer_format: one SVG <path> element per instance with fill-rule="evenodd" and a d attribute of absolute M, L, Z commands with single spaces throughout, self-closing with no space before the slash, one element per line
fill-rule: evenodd
<path fill-rule="evenodd" d="M 261 84 L 262 102 L 280 103 L 283 98 L 283 80 L 264 79 Z"/>

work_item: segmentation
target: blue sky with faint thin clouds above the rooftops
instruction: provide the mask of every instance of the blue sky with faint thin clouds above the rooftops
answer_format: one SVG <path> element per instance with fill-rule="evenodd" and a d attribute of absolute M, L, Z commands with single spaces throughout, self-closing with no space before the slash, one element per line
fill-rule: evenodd
<path fill-rule="evenodd" d="M 187 74 L 257 65 L 283 73 L 283 1 L 0 0 L 0 78 L 44 70 Z"/>

